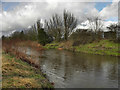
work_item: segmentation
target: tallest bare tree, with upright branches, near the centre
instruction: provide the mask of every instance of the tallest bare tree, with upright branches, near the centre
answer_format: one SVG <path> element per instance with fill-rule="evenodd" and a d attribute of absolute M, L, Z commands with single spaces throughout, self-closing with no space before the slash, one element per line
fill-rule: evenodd
<path fill-rule="evenodd" d="M 68 40 L 68 36 L 77 26 L 77 19 L 74 17 L 72 13 L 64 10 L 63 21 L 64 21 L 64 39 Z"/>

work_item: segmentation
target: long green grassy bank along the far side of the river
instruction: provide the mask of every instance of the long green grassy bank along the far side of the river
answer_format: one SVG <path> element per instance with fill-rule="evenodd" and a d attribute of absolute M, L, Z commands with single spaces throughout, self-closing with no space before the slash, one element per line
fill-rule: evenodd
<path fill-rule="evenodd" d="M 47 49 L 63 48 L 76 52 L 120 56 L 120 52 L 118 48 L 120 44 L 114 43 L 113 41 L 110 40 L 101 40 L 99 42 L 93 42 L 84 45 L 81 44 L 79 46 L 72 46 L 72 44 L 73 42 L 70 41 L 61 42 L 61 43 L 51 43 L 51 44 L 47 44 L 44 48 Z"/>

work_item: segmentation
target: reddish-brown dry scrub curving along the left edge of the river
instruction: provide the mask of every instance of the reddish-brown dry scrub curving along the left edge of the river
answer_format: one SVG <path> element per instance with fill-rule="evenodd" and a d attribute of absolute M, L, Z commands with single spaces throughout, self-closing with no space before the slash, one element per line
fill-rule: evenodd
<path fill-rule="evenodd" d="M 22 41 L 21 42 L 19 40 L 18 41 L 15 41 L 15 40 L 14 41 L 3 41 L 2 49 L 5 53 L 10 53 L 12 55 L 15 55 L 16 58 L 21 59 L 36 68 L 40 68 L 39 63 L 35 63 L 35 60 L 31 59 L 30 57 L 27 57 L 25 53 L 20 52 L 18 50 L 19 47 L 23 47 L 23 46 L 34 48 L 35 50 L 38 50 L 40 54 L 42 54 L 42 52 L 44 51 L 44 48 L 42 48 L 42 46 L 35 41 L 34 42 L 33 41 Z"/>

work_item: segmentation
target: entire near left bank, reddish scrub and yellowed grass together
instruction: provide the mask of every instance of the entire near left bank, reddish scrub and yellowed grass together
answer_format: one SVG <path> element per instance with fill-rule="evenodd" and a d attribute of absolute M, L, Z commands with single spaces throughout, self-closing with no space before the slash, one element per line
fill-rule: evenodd
<path fill-rule="evenodd" d="M 3 88 L 52 87 L 40 71 L 40 64 L 18 50 L 20 46 L 28 46 L 42 52 L 44 49 L 40 44 L 31 41 L 7 40 L 3 41 L 2 45 Z"/>

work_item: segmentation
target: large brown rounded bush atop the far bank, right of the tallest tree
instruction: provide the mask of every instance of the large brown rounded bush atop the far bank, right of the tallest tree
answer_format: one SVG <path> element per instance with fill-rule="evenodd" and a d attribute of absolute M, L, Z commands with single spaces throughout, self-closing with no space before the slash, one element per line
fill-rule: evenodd
<path fill-rule="evenodd" d="M 101 37 L 94 32 L 78 29 L 76 32 L 72 33 L 69 39 L 74 41 L 73 46 L 79 46 L 80 44 L 87 44 L 96 40 L 100 40 Z"/>

